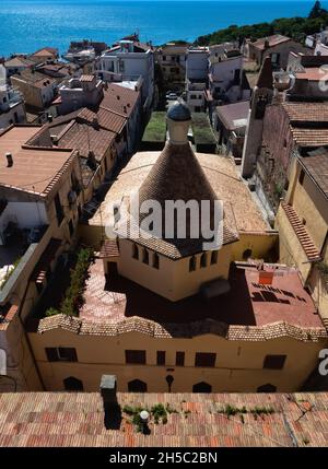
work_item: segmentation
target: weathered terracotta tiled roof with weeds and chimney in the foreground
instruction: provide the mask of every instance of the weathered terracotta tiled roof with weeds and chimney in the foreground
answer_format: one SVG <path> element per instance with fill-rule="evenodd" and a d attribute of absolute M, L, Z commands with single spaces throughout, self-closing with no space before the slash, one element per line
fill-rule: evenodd
<path fill-rule="evenodd" d="M 98 392 L 5 392 L 0 395 L 0 446 L 227 447 L 328 446 L 328 394 L 138 394 L 117 392 L 119 427 L 104 425 Z M 126 406 L 163 403 L 167 422 L 138 433 Z M 226 408 L 246 412 L 227 415 Z M 268 409 L 260 413 L 257 409 Z"/>

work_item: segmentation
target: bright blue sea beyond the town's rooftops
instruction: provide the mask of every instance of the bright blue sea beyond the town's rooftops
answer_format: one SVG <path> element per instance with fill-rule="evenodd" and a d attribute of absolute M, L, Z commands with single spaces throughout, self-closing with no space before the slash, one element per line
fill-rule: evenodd
<path fill-rule="evenodd" d="M 196 37 L 231 24 L 306 16 L 313 1 L 124 1 L 0 0 L 0 56 L 42 46 L 63 52 L 71 40 L 113 44 L 134 31 L 160 45 Z M 327 2 L 321 2 L 326 8 Z"/>

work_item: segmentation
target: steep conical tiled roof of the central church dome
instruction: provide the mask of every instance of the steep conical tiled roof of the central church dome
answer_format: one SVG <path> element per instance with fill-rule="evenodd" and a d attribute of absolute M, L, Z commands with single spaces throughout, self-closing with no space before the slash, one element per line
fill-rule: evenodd
<path fill-rule="evenodd" d="M 167 200 L 183 200 L 185 202 L 196 200 L 199 203 L 198 207 L 201 207 L 202 201 L 209 201 L 211 226 L 218 230 L 214 223 L 214 203 L 218 198 L 189 143 L 175 145 L 167 142 L 165 144 L 156 163 L 153 165 L 139 189 L 139 200 L 140 204 L 148 200 L 156 200 L 161 204 L 163 213 L 162 237 L 159 238 L 153 235 L 149 237 L 145 235 L 136 239 L 136 242 L 164 256 L 173 259 L 190 256 L 191 254 L 202 251 L 202 245 L 206 243 L 206 238 L 202 236 L 198 238 L 192 238 L 190 236 L 192 219 L 189 211 L 187 211 L 186 214 L 186 238 L 177 237 L 176 223 L 174 225 L 174 237 L 166 236 L 165 206 Z M 129 230 L 131 230 L 134 226 L 134 222 L 131 216 L 129 219 Z M 140 219 L 142 221 L 142 215 Z M 201 211 L 199 211 L 196 222 L 199 232 L 201 232 L 200 219 Z M 120 224 L 121 223 L 125 223 L 125 219 L 121 220 Z M 121 233 L 120 225 L 118 226 L 118 233 Z M 130 232 L 128 236 L 130 236 Z M 225 219 L 223 244 L 232 243 L 237 239 L 238 233 L 233 220 L 231 220 L 231 223 L 227 223 Z"/>

